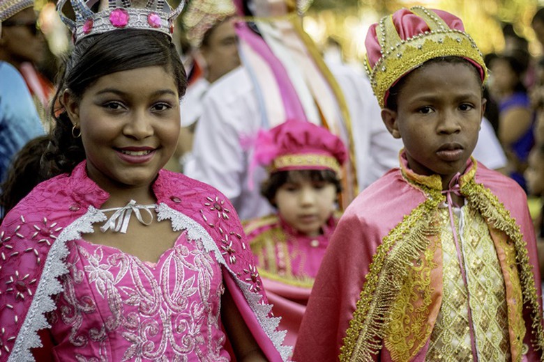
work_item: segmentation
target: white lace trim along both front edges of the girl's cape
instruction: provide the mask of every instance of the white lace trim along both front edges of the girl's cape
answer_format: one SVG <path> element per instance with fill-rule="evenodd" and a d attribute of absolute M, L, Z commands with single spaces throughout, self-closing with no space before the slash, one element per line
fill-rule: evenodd
<path fill-rule="evenodd" d="M 245 299 L 248 301 L 248 305 L 253 313 L 255 313 L 259 324 L 263 327 L 266 335 L 269 336 L 274 347 L 280 352 L 282 359 L 287 361 L 292 348 L 282 345 L 286 331 L 276 330 L 280 323 L 280 318 L 269 317 L 272 306 L 269 304 L 262 304 L 261 295 L 250 292 L 250 284 L 239 280 L 236 274 L 234 274 L 232 269 L 227 265 L 217 244 L 197 221 L 181 214 L 181 212 L 171 209 L 164 203 L 160 203 L 157 210 L 158 221 L 165 219 L 171 220 L 172 229 L 174 231 L 187 230 L 188 239 L 201 239 L 206 251 L 213 251 L 216 260 L 218 260 L 222 267 L 225 267 L 234 277 L 234 280 L 239 285 Z M 45 313 L 56 308 L 52 297 L 62 291 L 62 286 L 57 278 L 68 272 L 68 269 L 63 262 L 68 256 L 66 242 L 80 239 L 83 233 L 93 233 L 93 224 L 105 221 L 106 219 L 106 215 L 101 210 L 89 206 L 89 210 L 86 214 L 64 228 L 56 238 L 56 241 L 52 244 L 50 252 L 47 255 L 47 260 L 45 260 L 45 266 L 38 289 L 33 297 L 31 308 L 22 324 L 20 333 L 17 335 L 15 346 L 13 347 L 8 361 L 34 361 L 31 349 L 40 347 L 41 345 L 38 331 L 40 329 L 50 328 L 50 325 L 45 319 Z"/>

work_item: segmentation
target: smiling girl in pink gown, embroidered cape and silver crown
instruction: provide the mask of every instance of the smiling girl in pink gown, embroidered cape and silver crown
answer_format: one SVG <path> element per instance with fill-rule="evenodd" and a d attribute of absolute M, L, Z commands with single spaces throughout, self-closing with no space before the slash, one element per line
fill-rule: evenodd
<path fill-rule="evenodd" d="M 232 205 L 161 169 L 186 90 L 181 8 L 73 4 L 52 178 L 0 227 L 0 361 L 287 359 Z"/>

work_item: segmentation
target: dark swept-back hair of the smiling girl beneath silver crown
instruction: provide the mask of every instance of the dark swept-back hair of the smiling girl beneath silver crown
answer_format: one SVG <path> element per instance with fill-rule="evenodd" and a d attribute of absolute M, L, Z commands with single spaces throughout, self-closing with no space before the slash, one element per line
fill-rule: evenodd
<path fill-rule="evenodd" d="M 181 98 L 187 88 L 186 72 L 172 41 L 158 31 L 122 29 L 89 36 L 75 45 L 59 72 L 57 91 L 52 104 L 65 89 L 81 99 L 89 86 L 100 77 L 123 70 L 162 66 L 172 72 Z M 50 116 L 55 121 L 51 145 L 44 155 L 45 174 L 53 177 L 70 173 L 83 161 L 85 151 L 81 138 L 72 135 L 72 123 L 66 109 L 52 107 Z"/>

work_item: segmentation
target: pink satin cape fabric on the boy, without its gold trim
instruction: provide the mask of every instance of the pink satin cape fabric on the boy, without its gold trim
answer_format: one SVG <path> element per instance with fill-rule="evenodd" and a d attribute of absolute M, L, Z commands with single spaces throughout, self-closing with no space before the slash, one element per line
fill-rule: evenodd
<path fill-rule="evenodd" d="M 472 166 L 470 163 L 467 169 Z M 499 202 L 504 204 L 527 242 L 529 271 L 532 271 L 536 287 L 534 298 L 538 299 L 536 313 L 540 315 L 538 320 L 541 321 L 541 283 L 540 278 L 536 277 L 540 274 L 527 198 L 513 180 L 490 171 L 482 164 L 478 164 L 474 180 L 476 184 L 483 184 L 490 189 Z M 377 247 L 390 230 L 425 199 L 423 190 L 407 182 L 400 169 L 395 168 L 371 184 L 347 208 L 315 280 L 294 351 L 295 361 L 338 361 L 340 347 L 345 343 L 349 322 L 354 316 L 356 302 L 365 285 L 365 276 L 370 271 Z M 489 200 L 488 207 L 494 205 L 497 204 Z M 531 310 L 525 305 L 523 317 L 527 333 L 524 343 L 529 346 L 529 352 L 524 357 L 536 361 L 540 359 L 540 352 L 536 352 L 531 343 L 537 336 L 531 333 L 530 313 Z M 541 343 L 541 336 L 538 336 L 538 344 Z M 428 343 L 414 361 L 424 361 L 427 348 Z M 378 352 L 374 359 L 391 361 L 385 348 Z"/>

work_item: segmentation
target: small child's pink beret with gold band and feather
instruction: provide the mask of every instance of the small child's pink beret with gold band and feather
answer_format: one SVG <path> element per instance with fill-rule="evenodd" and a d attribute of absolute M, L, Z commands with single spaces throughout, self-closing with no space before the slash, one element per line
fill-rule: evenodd
<path fill-rule="evenodd" d="M 347 159 L 340 139 L 313 123 L 287 120 L 268 131 L 260 131 L 254 159 L 269 172 L 332 170 L 338 173 Z"/>

